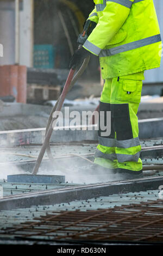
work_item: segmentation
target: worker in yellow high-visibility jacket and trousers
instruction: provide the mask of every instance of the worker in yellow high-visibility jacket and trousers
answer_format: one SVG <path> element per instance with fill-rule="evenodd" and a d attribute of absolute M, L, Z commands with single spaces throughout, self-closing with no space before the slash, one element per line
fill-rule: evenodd
<path fill-rule="evenodd" d="M 91 54 L 99 56 L 105 80 L 99 111 L 111 111 L 111 133 L 105 137 L 99 129 L 95 163 L 124 179 L 141 178 L 136 114 L 144 72 L 159 68 L 161 59 L 161 35 L 154 3 L 153 0 L 94 0 L 94 3 L 95 9 L 87 20 L 93 29 L 83 47 L 74 53 L 70 68 L 79 66 Z"/>

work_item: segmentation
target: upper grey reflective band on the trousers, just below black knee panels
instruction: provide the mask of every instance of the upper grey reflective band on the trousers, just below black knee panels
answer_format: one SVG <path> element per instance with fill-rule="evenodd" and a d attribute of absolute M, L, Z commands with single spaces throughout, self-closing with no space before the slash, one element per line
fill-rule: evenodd
<path fill-rule="evenodd" d="M 133 138 L 133 139 L 126 139 L 125 141 L 117 141 L 116 139 L 110 139 L 98 136 L 99 144 L 104 147 L 110 147 L 110 148 L 122 148 L 122 149 L 128 149 L 132 147 L 137 147 L 140 145 L 139 138 Z"/>

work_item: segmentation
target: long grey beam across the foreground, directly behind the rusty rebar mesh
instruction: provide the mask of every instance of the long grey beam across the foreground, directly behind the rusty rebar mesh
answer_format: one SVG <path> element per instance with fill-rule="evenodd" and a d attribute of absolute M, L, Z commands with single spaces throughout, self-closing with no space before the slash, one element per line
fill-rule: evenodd
<path fill-rule="evenodd" d="M 73 200 L 86 200 L 114 193 L 139 192 L 158 190 L 162 185 L 163 177 L 135 179 L 130 181 L 114 181 L 104 184 L 73 186 L 59 190 L 41 191 L 28 194 L 9 196 L 0 200 L 1 210 L 27 208 L 32 205 L 51 205 L 67 203 Z"/>

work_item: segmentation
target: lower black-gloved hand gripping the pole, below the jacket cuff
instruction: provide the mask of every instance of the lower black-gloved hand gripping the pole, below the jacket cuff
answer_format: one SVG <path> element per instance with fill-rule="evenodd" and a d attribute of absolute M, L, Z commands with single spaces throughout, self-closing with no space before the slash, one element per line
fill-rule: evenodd
<path fill-rule="evenodd" d="M 84 47 L 79 48 L 78 50 L 76 50 L 70 60 L 70 65 L 69 68 L 70 69 L 76 69 L 79 68 L 80 65 L 82 65 L 83 61 L 85 58 L 90 56 L 90 52 L 85 50 Z"/>

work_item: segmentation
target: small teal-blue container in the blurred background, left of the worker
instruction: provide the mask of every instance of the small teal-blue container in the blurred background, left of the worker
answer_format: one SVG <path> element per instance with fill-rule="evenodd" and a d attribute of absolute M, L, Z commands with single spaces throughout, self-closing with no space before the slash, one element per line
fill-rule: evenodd
<path fill-rule="evenodd" d="M 53 69 L 55 47 L 53 45 L 34 45 L 34 68 Z"/>

